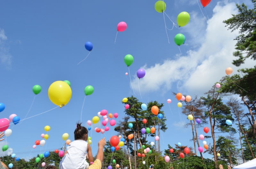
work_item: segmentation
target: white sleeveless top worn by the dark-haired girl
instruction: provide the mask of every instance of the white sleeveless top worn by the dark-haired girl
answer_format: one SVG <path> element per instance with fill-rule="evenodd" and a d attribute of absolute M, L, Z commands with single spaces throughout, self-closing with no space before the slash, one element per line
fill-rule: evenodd
<path fill-rule="evenodd" d="M 62 158 L 60 169 L 85 169 L 89 164 L 86 162 L 87 142 L 75 140 L 69 143 L 68 153 Z M 88 166 L 86 166 L 88 164 Z"/>

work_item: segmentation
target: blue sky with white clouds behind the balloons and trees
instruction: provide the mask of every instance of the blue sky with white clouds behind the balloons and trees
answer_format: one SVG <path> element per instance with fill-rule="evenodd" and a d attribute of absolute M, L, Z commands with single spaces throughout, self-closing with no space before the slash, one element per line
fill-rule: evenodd
<path fill-rule="evenodd" d="M 205 17 L 206 12 L 209 17 L 206 22 L 196 1 L 166 1 L 165 12 L 175 23 L 180 12 L 186 11 L 191 16 L 187 26 L 174 27 L 168 31 L 168 43 L 163 13 L 155 11 L 155 3 L 1 1 L 0 102 L 6 105 L 0 114 L 1 118 L 8 118 L 15 113 L 23 119 L 34 98 L 34 85 L 40 85 L 42 91 L 36 96 L 28 117 L 56 107 L 47 93 L 52 82 L 68 80 L 72 89 L 71 100 L 65 107 L 9 127 L 12 128 L 12 135 L 7 141 L 13 153 L 30 152 L 35 141 L 41 140 L 40 135 L 46 134 L 46 125 L 51 130 L 41 152 L 62 147 L 65 142 L 61 136 L 64 133 L 68 133 L 69 139 L 73 141 L 87 85 L 94 87 L 94 93 L 85 99 L 84 125 L 88 127 L 86 121 L 97 116 L 102 109 L 112 114 L 117 112 L 117 120 L 121 119 L 124 116 L 122 99 L 134 95 L 130 80 L 125 77 L 128 68 L 124 64 L 124 56 L 127 54 L 134 57 L 130 73 L 137 98 L 140 99 L 136 71 L 144 67 L 146 76 L 140 81 L 144 102 L 156 100 L 165 105 L 163 110 L 168 120 L 168 134 L 160 137 L 161 149 L 166 149 L 167 144 L 174 146 L 178 142 L 193 146 L 193 142 L 189 141 L 192 138 L 191 129 L 183 127 L 188 119 L 182 116 L 183 122 L 180 122 L 181 109 L 178 109 L 178 101 L 171 91 L 192 97 L 196 94 L 202 96 L 225 75 L 226 67 L 233 66 L 233 39 L 238 33 L 230 33 L 222 21 L 237 10 L 235 3 L 229 1 L 218 4 L 212 1 L 204 9 L 200 4 Z M 118 33 L 114 43 L 116 26 L 121 21 L 127 23 L 127 29 Z M 172 28 L 172 22 L 166 16 L 165 21 L 167 27 Z M 178 33 L 186 36 L 186 44 L 180 46 L 182 54 L 173 41 Z M 86 60 L 77 65 L 89 53 L 84 48 L 87 41 L 92 42 L 93 50 Z M 244 66 L 252 65 L 246 62 Z M 234 66 L 233 69 L 237 70 Z M 172 100 L 170 106 L 173 114 L 166 103 L 169 98 Z M 109 140 L 110 136 L 116 135 L 113 129 L 110 127 L 106 135 L 94 130 L 91 135 L 90 132 L 93 154 L 98 150 L 97 142 L 101 137 Z M 154 141 L 154 138 L 149 141 Z M 36 150 L 39 151 L 40 147 L 33 151 Z M 33 151 L 29 157 L 37 154 Z M 28 155 L 20 154 L 17 157 L 27 158 Z M 207 154 L 204 156 L 211 157 Z"/>

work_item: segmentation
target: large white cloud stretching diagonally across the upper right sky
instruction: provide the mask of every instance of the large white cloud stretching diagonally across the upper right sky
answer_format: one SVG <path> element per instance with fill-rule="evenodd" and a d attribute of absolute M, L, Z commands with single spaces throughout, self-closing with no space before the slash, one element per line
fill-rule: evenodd
<path fill-rule="evenodd" d="M 192 45 L 201 42 L 198 43 L 200 47 L 197 50 L 189 50 L 185 56 L 177 54 L 175 59 L 165 60 L 162 64 L 156 63 L 151 67 L 144 65 L 146 76 L 140 79 L 140 92 L 165 93 L 172 88 L 173 83 L 176 83 L 179 92 L 186 92 L 191 96 L 202 95 L 226 75 L 227 67 L 232 67 L 233 72 L 236 73 L 238 68 L 232 65 L 232 60 L 235 59 L 232 53 L 236 44 L 233 39 L 238 35 L 238 31 L 231 33 L 222 23 L 223 20 L 230 18 L 231 14 L 236 13 L 235 3 L 219 2 L 213 9 L 213 16 L 207 21 L 205 28 L 202 23 L 205 22 L 203 16 L 200 19 L 198 14 L 192 12 L 191 23 L 184 30 L 191 34 L 191 37 L 194 35 L 194 39 L 186 42 Z M 204 30 L 197 27 L 204 27 Z M 199 35 L 201 38 L 197 39 Z M 183 46 L 180 48 L 182 49 Z M 243 67 L 253 65 L 255 63 L 248 60 Z M 137 77 L 132 80 L 132 86 L 139 91 Z"/>

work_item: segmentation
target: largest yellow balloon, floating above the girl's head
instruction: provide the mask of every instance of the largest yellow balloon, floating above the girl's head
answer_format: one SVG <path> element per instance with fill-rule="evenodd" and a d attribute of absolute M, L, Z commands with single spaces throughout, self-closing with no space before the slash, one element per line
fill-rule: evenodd
<path fill-rule="evenodd" d="M 68 83 L 64 81 L 55 81 L 48 89 L 48 96 L 52 103 L 58 106 L 68 104 L 72 95 L 72 91 Z"/>

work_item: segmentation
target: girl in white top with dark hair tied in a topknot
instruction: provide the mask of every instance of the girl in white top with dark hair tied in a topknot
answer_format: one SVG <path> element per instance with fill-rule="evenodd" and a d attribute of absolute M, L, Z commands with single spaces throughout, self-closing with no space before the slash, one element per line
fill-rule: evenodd
<path fill-rule="evenodd" d="M 88 130 L 81 124 L 76 124 L 75 141 L 69 143 L 60 162 L 60 169 L 88 169 L 89 164 L 86 162 L 86 157 L 90 162 L 93 161 L 91 146 L 86 142 L 88 140 Z"/>

